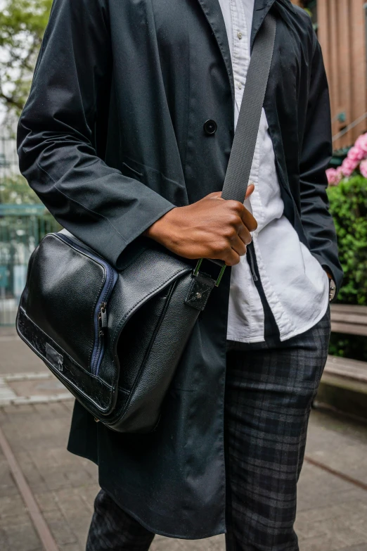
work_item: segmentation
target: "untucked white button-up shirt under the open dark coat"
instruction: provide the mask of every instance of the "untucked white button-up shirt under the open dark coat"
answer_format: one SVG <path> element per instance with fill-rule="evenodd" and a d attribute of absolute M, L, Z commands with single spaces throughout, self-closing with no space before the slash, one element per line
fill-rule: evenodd
<path fill-rule="evenodd" d="M 250 63 L 254 0 L 219 0 L 226 24 L 235 84 L 235 126 Z M 255 191 L 245 206 L 257 220 L 252 233 L 259 275 L 281 341 L 316 324 L 328 308 L 328 276 L 283 215 L 273 144 L 264 109 L 250 173 Z M 264 341 L 264 310 L 245 256 L 232 267 L 227 338 Z"/>

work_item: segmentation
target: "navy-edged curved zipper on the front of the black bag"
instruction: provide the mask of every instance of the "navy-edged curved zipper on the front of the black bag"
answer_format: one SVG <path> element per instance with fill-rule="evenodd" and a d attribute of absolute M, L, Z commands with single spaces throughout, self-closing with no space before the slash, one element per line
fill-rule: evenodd
<path fill-rule="evenodd" d="M 91 355 L 91 373 L 98 375 L 99 366 L 103 358 L 105 348 L 105 330 L 108 327 L 107 316 L 107 303 L 112 293 L 112 289 L 115 287 L 117 281 L 117 272 L 112 268 L 108 262 L 103 258 L 97 256 L 88 247 L 83 247 L 79 244 L 79 240 L 70 238 L 64 234 L 58 234 L 58 237 L 68 243 L 77 251 L 84 253 L 86 256 L 93 258 L 99 265 L 101 265 L 105 271 L 105 281 L 101 290 L 101 294 L 98 297 L 96 308 L 94 310 L 94 347 Z"/>

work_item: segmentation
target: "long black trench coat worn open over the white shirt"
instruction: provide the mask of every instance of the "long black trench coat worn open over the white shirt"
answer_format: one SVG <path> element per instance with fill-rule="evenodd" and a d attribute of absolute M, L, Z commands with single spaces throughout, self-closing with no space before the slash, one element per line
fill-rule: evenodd
<path fill-rule="evenodd" d="M 328 87 L 309 16 L 269 9 L 276 44 L 264 108 L 285 215 L 340 285 L 325 169 Z M 218 0 L 55 0 L 18 129 L 20 168 L 56 219 L 119 266 L 174 205 L 218 191 L 233 140 L 233 75 Z M 203 129 L 207 119 L 217 132 Z M 230 270 L 198 320 L 157 431 L 125 436 L 80 405 L 69 450 L 156 533 L 225 531 L 224 381 Z M 167 343 L 169 346 L 169 343 Z"/>

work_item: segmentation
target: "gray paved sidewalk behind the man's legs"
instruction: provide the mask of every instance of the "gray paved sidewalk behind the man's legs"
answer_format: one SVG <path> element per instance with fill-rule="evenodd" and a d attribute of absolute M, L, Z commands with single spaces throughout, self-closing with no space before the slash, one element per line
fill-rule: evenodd
<path fill-rule="evenodd" d="M 27 379 L 46 368 L 11 330 L 0 333 L 0 350 L 0 377 L 19 374 L 18 381 L 4 383 L 15 398 L 63 392 L 54 379 Z M 96 466 L 65 450 L 72 405 L 62 398 L 0 407 L 0 427 L 60 551 L 84 550 L 98 492 Z M 367 488 L 367 427 L 313 412 L 307 457 L 335 473 L 304 463 L 297 514 L 300 550 L 367 551 L 367 490 L 342 478 L 347 475 Z M 0 550 L 43 551 L 1 452 Z M 184 541 L 157 536 L 152 550 L 223 551 L 224 537 Z"/>

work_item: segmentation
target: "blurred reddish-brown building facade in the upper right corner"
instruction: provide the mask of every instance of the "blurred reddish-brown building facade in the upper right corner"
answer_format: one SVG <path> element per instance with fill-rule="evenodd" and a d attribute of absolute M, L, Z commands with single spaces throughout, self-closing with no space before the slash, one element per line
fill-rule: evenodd
<path fill-rule="evenodd" d="M 367 131 L 365 0 L 295 0 L 309 10 L 328 75 L 334 149 Z"/>

